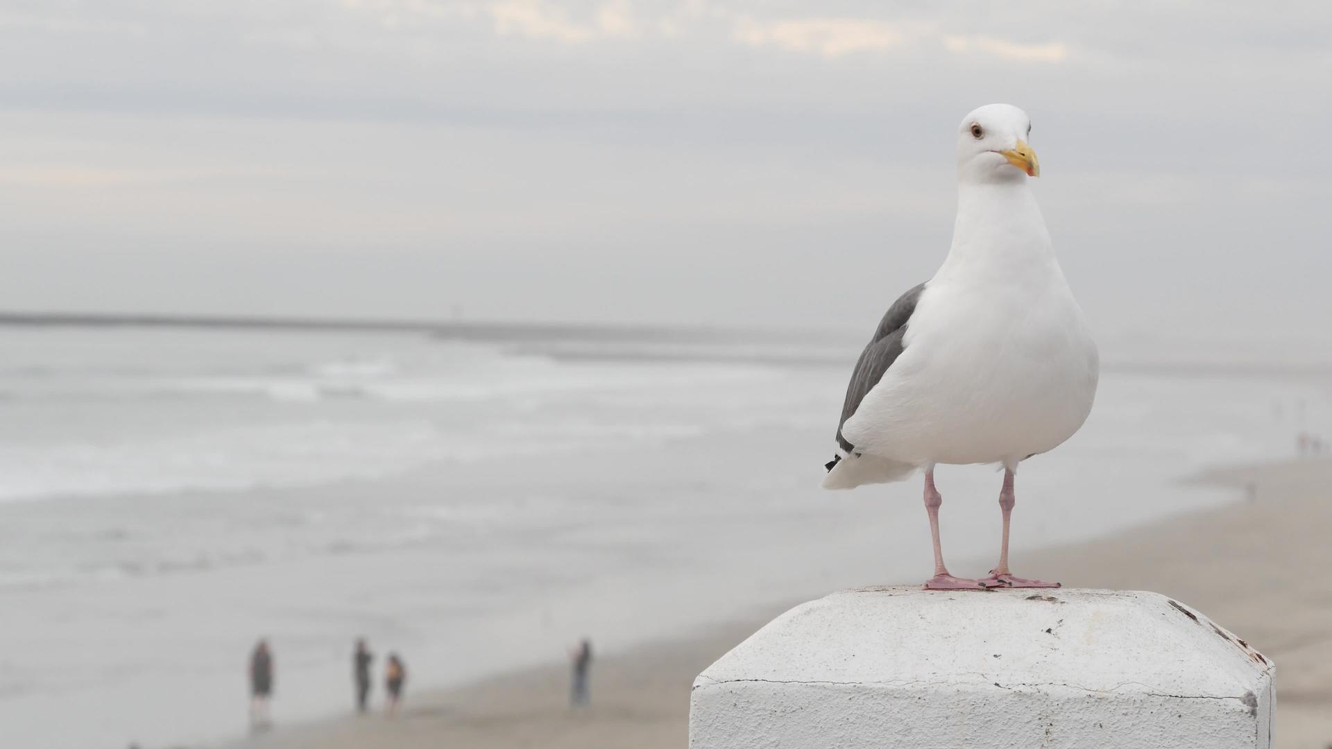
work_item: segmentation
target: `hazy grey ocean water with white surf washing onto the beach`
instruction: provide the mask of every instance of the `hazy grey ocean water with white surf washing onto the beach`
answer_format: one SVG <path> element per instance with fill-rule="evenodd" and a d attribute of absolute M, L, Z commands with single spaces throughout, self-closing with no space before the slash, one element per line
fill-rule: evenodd
<path fill-rule="evenodd" d="M 234 737 L 260 636 L 289 724 L 349 709 L 358 636 L 402 653 L 410 692 L 930 572 L 918 481 L 818 489 L 854 341 L 0 327 L 0 347 L 15 745 Z M 1304 371 L 1131 359 L 1024 464 L 1019 574 L 1024 548 L 1231 500 L 1176 480 L 1332 425 Z M 979 574 L 999 477 L 939 482 L 946 552 Z"/>

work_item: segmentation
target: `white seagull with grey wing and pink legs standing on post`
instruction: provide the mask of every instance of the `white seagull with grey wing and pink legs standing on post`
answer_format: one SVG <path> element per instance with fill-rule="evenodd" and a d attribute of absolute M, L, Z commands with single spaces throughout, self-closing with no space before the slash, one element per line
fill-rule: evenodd
<path fill-rule="evenodd" d="M 1031 193 L 1040 175 L 1031 117 L 990 104 L 958 128 L 952 247 L 928 281 L 888 308 L 860 359 L 838 422 L 826 489 L 924 470 L 934 540 L 926 589 L 1058 588 L 1008 569 L 1018 464 L 1071 437 L 1091 413 L 1099 355 Z M 943 564 L 935 465 L 1003 466 L 999 564 L 984 578 Z"/>

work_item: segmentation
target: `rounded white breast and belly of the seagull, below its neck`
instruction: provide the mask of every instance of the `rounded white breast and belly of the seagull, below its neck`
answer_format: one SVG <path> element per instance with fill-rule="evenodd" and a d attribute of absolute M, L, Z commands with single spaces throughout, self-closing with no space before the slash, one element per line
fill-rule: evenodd
<path fill-rule="evenodd" d="M 1058 264 L 1008 276 L 946 271 L 843 434 L 858 452 L 916 465 L 1016 465 L 1058 446 L 1087 420 L 1099 372 Z"/>

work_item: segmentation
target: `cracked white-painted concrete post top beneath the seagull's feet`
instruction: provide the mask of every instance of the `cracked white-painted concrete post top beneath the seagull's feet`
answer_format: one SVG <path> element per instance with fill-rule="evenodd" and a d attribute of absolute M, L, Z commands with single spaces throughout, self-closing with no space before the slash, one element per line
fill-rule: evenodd
<path fill-rule="evenodd" d="M 690 749 L 1268 749 L 1275 666 L 1156 593 L 872 588 L 694 681 Z"/>

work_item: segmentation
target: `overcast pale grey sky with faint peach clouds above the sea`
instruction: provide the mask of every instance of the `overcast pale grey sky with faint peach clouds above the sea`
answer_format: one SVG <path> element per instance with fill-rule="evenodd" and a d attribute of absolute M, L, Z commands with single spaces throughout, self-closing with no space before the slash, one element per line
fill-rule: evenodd
<path fill-rule="evenodd" d="M 1332 7 L 0 0 L 0 308 L 846 324 L 1031 113 L 1106 335 L 1332 319 Z"/>

